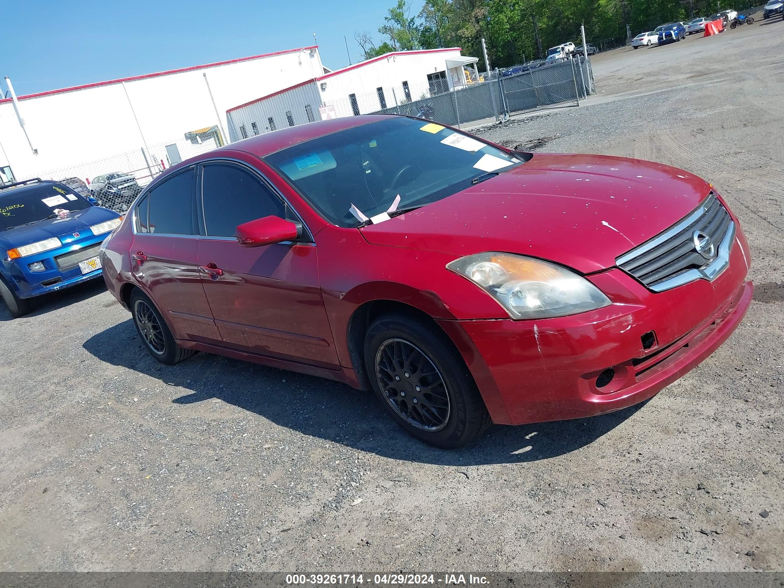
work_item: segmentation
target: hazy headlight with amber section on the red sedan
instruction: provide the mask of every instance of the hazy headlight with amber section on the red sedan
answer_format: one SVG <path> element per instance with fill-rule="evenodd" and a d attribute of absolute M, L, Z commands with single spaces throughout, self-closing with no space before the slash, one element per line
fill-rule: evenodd
<path fill-rule="evenodd" d="M 512 318 L 563 317 L 610 304 L 590 281 L 532 257 L 477 253 L 446 267 L 488 292 Z"/>

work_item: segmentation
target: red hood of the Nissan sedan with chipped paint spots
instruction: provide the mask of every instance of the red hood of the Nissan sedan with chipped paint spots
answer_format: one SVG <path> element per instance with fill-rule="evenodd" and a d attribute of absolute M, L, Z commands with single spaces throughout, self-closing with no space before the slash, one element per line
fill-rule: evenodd
<path fill-rule="evenodd" d="M 710 184 L 639 159 L 535 154 L 515 169 L 412 212 L 361 228 L 374 245 L 467 256 L 521 253 L 583 273 L 694 210 Z"/>

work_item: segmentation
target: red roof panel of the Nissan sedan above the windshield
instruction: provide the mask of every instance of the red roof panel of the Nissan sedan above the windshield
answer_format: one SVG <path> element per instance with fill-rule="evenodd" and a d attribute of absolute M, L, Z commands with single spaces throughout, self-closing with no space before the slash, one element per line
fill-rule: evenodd
<path fill-rule="evenodd" d="M 332 132 L 351 129 L 355 126 L 368 125 L 372 122 L 379 122 L 400 116 L 398 114 L 359 114 L 358 116 L 348 116 L 343 118 L 332 118 L 328 121 L 309 122 L 305 125 L 296 125 L 279 129 L 277 131 L 265 132 L 263 135 L 256 135 L 229 143 L 224 147 L 219 147 L 215 151 L 210 151 L 213 156 L 220 156 L 220 151 L 245 151 L 256 157 L 263 158 L 275 151 L 292 147 L 297 143 L 316 139 L 320 136 L 329 135 Z M 183 162 L 184 163 L 184 162 Z"/>

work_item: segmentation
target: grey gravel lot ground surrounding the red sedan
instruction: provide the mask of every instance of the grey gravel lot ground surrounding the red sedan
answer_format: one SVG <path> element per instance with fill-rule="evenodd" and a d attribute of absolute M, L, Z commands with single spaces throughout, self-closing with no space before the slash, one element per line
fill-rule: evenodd
<path fill-rule="evenodd" d="M 755 301 L 699 368 L 609 416 L 461 451 L 367 393 L 141 347 L 102 284 L 0 310 L 0 570 L 782 570 L 784 22 L 595 56 L 600 94 L 483 131 L 712 181 Z"/>

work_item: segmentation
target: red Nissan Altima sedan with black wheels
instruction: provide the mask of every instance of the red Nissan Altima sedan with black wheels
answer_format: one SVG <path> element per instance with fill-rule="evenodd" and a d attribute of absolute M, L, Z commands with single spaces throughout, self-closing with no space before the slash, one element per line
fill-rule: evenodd
<path fill-rule="evenodd" d="M 382 115 L 176 165 L 101 261 L 158 361 L 209 351 L 372 389 L 441 448 L 652 397 L 753 289 L 738 218 L 689 172 Z"/>

